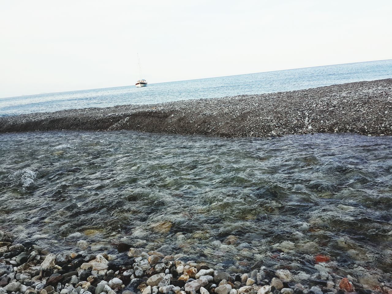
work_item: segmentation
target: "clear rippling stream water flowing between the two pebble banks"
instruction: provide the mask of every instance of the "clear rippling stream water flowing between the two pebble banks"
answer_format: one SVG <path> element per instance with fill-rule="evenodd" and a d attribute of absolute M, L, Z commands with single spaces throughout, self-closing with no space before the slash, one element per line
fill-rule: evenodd
<path fill-rule="evenodd" d="M 325 267 L 385 281 L 391 150 L 391 137 L 354 134 L 2 134 L 0 223 L 53 251 L 128 241 L 230 272 L 264 265 L 306 279 Z M 316 265 L 318 254 L 332 262 Z"/>

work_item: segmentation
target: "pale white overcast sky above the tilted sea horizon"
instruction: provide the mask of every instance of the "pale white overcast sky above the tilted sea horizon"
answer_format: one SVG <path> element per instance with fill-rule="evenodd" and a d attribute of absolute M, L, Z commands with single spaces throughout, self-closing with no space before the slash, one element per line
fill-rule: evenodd
<path fill-rule="evenodd" d="M 390 0 L 0 0 L 0 97 L 392 58 Z"/>

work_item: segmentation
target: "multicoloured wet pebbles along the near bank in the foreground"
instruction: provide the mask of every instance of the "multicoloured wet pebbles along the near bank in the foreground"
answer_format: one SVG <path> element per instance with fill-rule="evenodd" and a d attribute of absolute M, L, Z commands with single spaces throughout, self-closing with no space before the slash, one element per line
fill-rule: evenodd
<path fill-rule="evenodd" d="M 75 237 L 78 233 L 75 233 Z M 116 252 L 80 250 L 57 254 L 32 242 L 16 243 L 0 231 L 0 293 L 22 294 L 323 294 L 358 292 L 392 293 L 392 283 L 329 272 L 329 256 L 316 255 L 318 274 L 261 266 L 249 273 L 228 273 L 204 263 L 186 260 L 181 254 L 133 248 L 118 243 Z M 297 273 L 296 273 L 297 272 Z M 367 281 L 367 280 L 363 280 Z"/>

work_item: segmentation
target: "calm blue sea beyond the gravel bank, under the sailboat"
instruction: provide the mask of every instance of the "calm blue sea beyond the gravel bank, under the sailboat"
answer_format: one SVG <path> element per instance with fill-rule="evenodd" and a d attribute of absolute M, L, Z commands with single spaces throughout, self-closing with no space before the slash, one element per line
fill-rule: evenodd
<path fill-rule="evenodd" d="M 392 60 L 155 83 L 142 88 L 136 88 L 132 83 L 124 87 L 2 98 L 0 116 L 272 93 L 384 78 L 392 78 Z"/>

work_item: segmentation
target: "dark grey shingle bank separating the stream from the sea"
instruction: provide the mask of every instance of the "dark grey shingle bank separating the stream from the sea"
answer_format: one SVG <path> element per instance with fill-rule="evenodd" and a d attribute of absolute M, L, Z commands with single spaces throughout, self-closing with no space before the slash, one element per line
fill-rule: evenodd
<path fill-rule="evenodd" d="M 121 129 L 224 137 L 312 132 L 392 135 L 392 79 L 0 118 L 0 132 Z"/>

